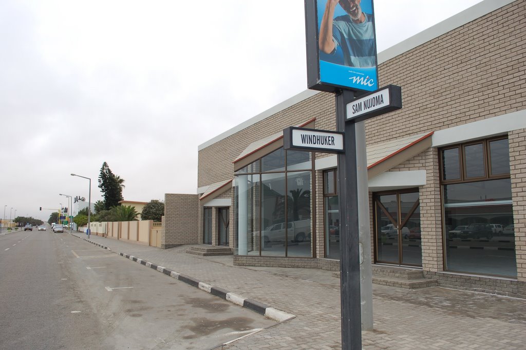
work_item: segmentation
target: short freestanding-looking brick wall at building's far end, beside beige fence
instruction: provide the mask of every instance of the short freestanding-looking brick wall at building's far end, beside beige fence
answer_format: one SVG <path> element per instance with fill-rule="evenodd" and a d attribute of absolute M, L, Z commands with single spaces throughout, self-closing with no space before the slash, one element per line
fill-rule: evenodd
<path fill-rule="evenodd" d="M 195 194 L 165 194 L 164 232 L 161 234 L 161 248 L 198 243 L 198 198 Z"/>

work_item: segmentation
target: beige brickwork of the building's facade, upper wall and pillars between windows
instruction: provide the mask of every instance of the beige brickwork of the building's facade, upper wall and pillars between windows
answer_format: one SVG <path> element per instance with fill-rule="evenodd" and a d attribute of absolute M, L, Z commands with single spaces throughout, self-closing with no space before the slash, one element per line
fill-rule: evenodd
<path fill-rule="evenodd" d="M 516 1 L 382 63 L 379 85 L 402 86 L 403 108 L 367 121 L 367 143 L 438 131 L 525 109 L 525 13 L 526 0 Z M 335 113 L 335 96 L 319 93 L 202 149 L 198 159 L 198 186 L 234 177 L 232 162 L 246 146 L 287 126 L 316 117 L 316 128 L 335 130 Z M 520 146 L 521 142 L 524 144 L 523 138 L 523 131 L 510 133 L 514 217 L 519 227 L 518 271 L 519 278 L 524 280 L 526 224 L 522 183 L 526 160 Z M 328 154 L 316 155 L 317 158 L 325 156 Z M 391 171 L 422 169 L 427 173 L 427 184 L 420 187 L 422 264 L 424 271 L 436 273 L 443 269 L 438 150 L 428 149 Z M 317 257 L 323 257 L 321 172 L 316 172 L 316 182 L 315 252 Z M 228 193 L 232 203 L 233 192 Z M 372 201 L 370 203 L 372 213 Z M 234 207 L 231 209 L 230 232 L 234 238 Z M 202 206 L 198 212 L 198 231 L 202 232 Z M 234 239 L 230 242 L 233 246 Z"/>

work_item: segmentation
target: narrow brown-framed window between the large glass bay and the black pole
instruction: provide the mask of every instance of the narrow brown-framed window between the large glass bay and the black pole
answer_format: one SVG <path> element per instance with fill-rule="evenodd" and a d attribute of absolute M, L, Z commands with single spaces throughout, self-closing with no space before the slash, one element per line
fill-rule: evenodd
<path fill-rule="evenodd" d="M 340 258 L 340 207 L 336 169 L 323 172 L 323 206 L 325 219 L 325 256 Z"/>

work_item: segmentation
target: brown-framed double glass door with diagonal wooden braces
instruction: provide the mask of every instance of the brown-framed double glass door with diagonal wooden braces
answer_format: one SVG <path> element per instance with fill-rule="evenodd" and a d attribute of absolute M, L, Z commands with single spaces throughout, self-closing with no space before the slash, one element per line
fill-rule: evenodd
<path fill-rule="evenodd" d="M 376 262 L 422 266 L 418 190 L 376 193 Z"/>

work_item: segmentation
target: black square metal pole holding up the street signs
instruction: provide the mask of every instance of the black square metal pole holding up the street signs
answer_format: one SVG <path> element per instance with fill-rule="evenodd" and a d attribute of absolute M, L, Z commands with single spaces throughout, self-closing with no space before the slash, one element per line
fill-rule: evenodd
<path fill-rule="evenodd" d="M 337 130 L 345 133 L 345 153 L 338 154 L 342 350 L 361 349 L 356 125 L 346 122 L 346 106 L 353 99 L 354 94 L 349 90 L 336 95 Z"/>

